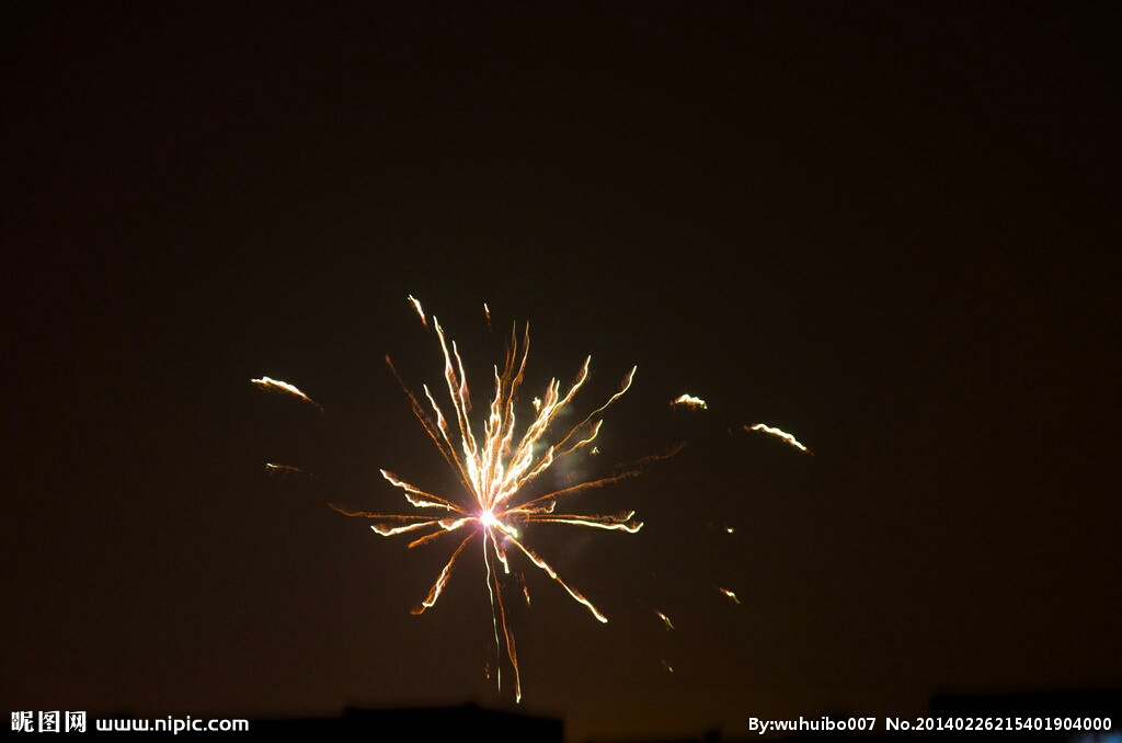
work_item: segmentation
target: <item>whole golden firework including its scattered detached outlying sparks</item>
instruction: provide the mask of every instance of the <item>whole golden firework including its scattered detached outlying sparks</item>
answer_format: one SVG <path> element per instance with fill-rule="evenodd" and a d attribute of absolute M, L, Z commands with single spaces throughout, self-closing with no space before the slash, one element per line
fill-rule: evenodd
<path fill-rule="evenodd" d="M 554 431 L 554 422 L 570 406 L 577 393 L 588 380 L 591 357 L 586 358 L 576 380 L 567 392 L 562 393 L 561 384 L 554 378 L 541 397 L 532 398 L 533 413 L 528 419 L 528 424 L 519 433 L 516 426 L 515 407 L 526 369 L 530 325 L 528 323 L 525 325 L 519 339 L 517 324 L 514 324 L 511 329 L 503 367 L 499 369 L 498 366 L 495 366 L 494 395 L 490 398 L 486 416 L 480 416 L 481 420 L 473 424 L 470 419 L 471 394 L 463 372 L 463 361 L 456 342 L 445 338 L 444 329 L 440 322 L 435 317 L 425 314 L 420 301 L 410 296 L 408 302 L 416 311 L 422 324 L 435 332 L 439 339 L 444 358 L 444 383 L 448 387 L 451 407 L 449 409 L 448 403 L 444 403 L 445 407 L 442 409 L 441 403 L 436 402 L 436 397 L 427 386 L 422 386 L 423 396 L 416 395 L 404 383 L 388 356 L 386 363 L 402 389 L 405 391 L 421 425 L 457 474 L 462 493 L 453 497 L 435 495 L 383 469 L 380 470 L 381 476 L 403 492 L 406 501 L 413 507 L 413 512 L 371 513 L 351 511 L 335 504 L 330 505 L 344 515 L 369 519 L 373 522 L 371 529 L 381 536 L 410 534 L 413 538 L 408 543 L 410 548 L 441 541 L 448 534 L 459 534 L 458 542 L 456 539 L 451 540 L 451 554 L 429 594 L 413 609 L 414 614 L 422 614 L 433 607 L 461 558 L 479 550 L 475 553 L 481 554 L 486 568 L 486 586 L 490 599 L 494 639 L 498 655 L 496 664 L 498 686 L 502 689 L 503 669 L 506 666 L 513 671 L 515 699 L 521 700 L 521 671 L 515 652 L 514 634 L 507 621 L 507 600 L 504 597 L 504 589 L 515 591 L 519 598 L 525 599 L 526 606 L 530 605 L 530 590 L 525 577 L 521 572 L 515 574 L 513 580 L 505 578 L 512 572 L 512 559 L 527 559 L 561 586 L 573 600 L 585 606 L 597 621 L 601 623 L 608 621 L 588 598 L 562 579 L 557 570 L 526 543 L 523 525 L 553 523 L 634 534 L 643 528 L 643 523 L 635 519 L 634 511 L 617 514 L 573 513 L 564 507 L 563 502 L 581 490 L 601 487 L 640 475 L 651 462 L 674 456 L 686 444 L 681 443 L 666 453 L 641 459 L 615 470 L 615 474 L 610 476 L 578 481 L 560 489 L 543 493 L 544 488 L 539 485 L 540 478 L 554 465 L 581 450 L 589 455 L 597 453 L 592 442 L 604 422 L 601 414 L 627 392 L 635 377 L 636 368 L 632 368 L 624 377 L 619 389 L 607 402 L 585 416 L 580 423 L 560 432 Z M 490 330 L 490 310 L 486 304 L 484 312 L 487 328 Z M 251 379 L 251 383 L 260 389 L 293 396 L 321 412 L 323 411 L 319 403 L 287 382 L 261 377 Z M 427 402 L 427 405 L 422 403 L 422 398 Z M 672 407 L 687 407 L 695 411 L 708 409 L 706 401 L 689 394 L 679 396 L 670 404 Z M 451 415 L 445 415 L 444 410 L 450 410 Z M 804 453 L 810 453 L 810 450 L 798 439 L 781 429 L 763 423 L 744 425 L 743 428 L 749 432 L 776 437 L 789 446 Z M 277 477 L 301 475 L 314 479 L 313 475 L 288 465 L 269 464 L 267 470 Z M 733 528 L 725 525 L 721 531 L 732 534 Z M 476 541 L 477 538 L 478 541 Z M 519 553 L 522 558 L 518 558 Z M 741 603 L 733 590 L 721 586 L 712 586 L 712 588 L 730 604 Z M 674 629 L 669 616 L 656 609 L 652 611 L 662 621 L 668 632 Z M 666 671 L 673 672 L 673 668 L 665 660 L 662 662 Z"/>

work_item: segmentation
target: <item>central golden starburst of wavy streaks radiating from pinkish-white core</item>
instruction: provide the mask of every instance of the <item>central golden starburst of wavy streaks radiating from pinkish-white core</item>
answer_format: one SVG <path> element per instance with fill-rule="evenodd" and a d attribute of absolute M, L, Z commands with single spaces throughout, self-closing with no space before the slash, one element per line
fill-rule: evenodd
<path fill-rule="evenodd" d="M 421 303 L 413 296 L 410 296 L 408 300 L 413 303 L 422 322 L 427 325 L 427 320 L 421 310 Z M 485 311 L 489 319 L 490 311 L 486 305 Z M 498 366 L 495 367 L 495 393 L 488 406 L 487 415 L 482 421 L 482 435 L 480 437 L 479 430 L 472 426 L 468 416 L 471 410 L 471 396 L 463 374 L 463 363 L 460 358 L 459 349 L 454 341 L 449 345 L 444 337 L 444 329 L 440 325 L 435 317 L 432 319 L 432 327 L 436 332 L 441 350 L 444 354 L 444 380 L 454 412 L 451 419 L 445 418 L 432 392 L 430 392 L 427 386 L 424 386 L 422 387 L 424 396 L 432 409 L 432 414 L 430 414 L 425 406 L 422 405 L 417 395 L 402 382 L 389 357 L 386 357 L 386 363 L 408 396 L 413 405 L 413 412 L 417 416 L 417 420 L 421 421 L 421 425 L 433 443 L 436 444 L 444 459 L 459 475 L 460 483 L 469 496 L 469 502 L 467 504 L 454 503 L 426 493 L 415 485 L 402 480 L 396 475 L 381 470 L 383 477 L 390 485 L 401 488 L 405 493 L 405 497 L 411 505 L 419 510 L 435 510 L 438 513 L 432 515 L 421 513 L 376 514 L 346 511 L 334 505 L 332 507 L 348 516 L 359 516 L 375 521 L 376 523 L 371 528 L 383 536 L 393 536 L 406 532 L 424 532 L 419 539 L 411 542 L 410 547 L 426 544 L 450 532 L 468 530 L 466 538 L 444 565 L 444 569 L 436 578 L 427 597 L 414 609 L 415 614 L 421 614 L 436 603 L 452 574 L 457 558 L 459 558 L 476 535 L 480 536 L 484 565 L 487 572 L 487 591 L 491 603 L 495 643 L 498 646 L 500 661 L 496 668 L 498 684 L 499 688 L 502 688 L 502 654 L 505 650 L 506 657 L 514 670 L 515 698 L 521 700 L 522 685 L 518 660 L 514 649 L 514 635 L 511 633 L 506 621 L 506 608 L 502 590 L 503 583 L 499 574 L 499 570 L 502 570 L 503 575 L 511 572 L 511 565 L 507 557 L 508 548 L 516 548 L 518 552 L 564 588 L 573 600 L 588 608 L 599 622 L 607 622 L 608 620 L 580 591 L 562 580 L 545 560 L 523 543 L 519 525 L 526 523 L 559 523 L 624 531 L 634 534 L 643 526 L 642 522 L 635 520 L 634 511 L 616 515 L 601 515 L 554 513 L 554 508 L 559 499 L 573 493 L 634 477 L 641 473 L 643 465 L 673 456 L 681 447 L 666 455 L 647 457 L 635 462 L 625 471 L 610 477 L 569 485 L 544 495 L 531 495 L 530 488 L 526 487 L 527 485 L 551 466 L 585 449 L 596 439 L 603 423 L 603 419 L 598 416 L 627 392 L 635 376 L 635 369 L 633 368 L 624 379 L 619 392 L 613 395 L 604 405 L 588 414 L 576 426 L 569 429 L 569 432 L 561 437 L 560 440 L 550 443 L 546 441 L 550 426 L 565 406 L 572 402 L 573 397 L 588 379 L 591 357 L 587 358 L 576 382 L 572 383 L 567 393 L 561 394 L 561 385 L 554 378 L 550 382 L 544 395 L 540 398 L 534 398 L 534 416 L 526 426 L 525 432 L 521 438 L 516 439 L 515 401 L 517 400 L 518 387 L 523 382 L 526 367 L 530 328 L 528 325 L 526 327 L 523 339 L 519 342 L 516 327 L 514 327 L 511 331 L 511 342 L 507 347 L 506 360 L 502 372 Z M 530 591 L 524 581 L 522 581 L 522 593 L 528 604 Z M 670 620 L 664 615 L 660 614 L 660 616 L 662 616 L 668 625 L 670 624 Z"/>

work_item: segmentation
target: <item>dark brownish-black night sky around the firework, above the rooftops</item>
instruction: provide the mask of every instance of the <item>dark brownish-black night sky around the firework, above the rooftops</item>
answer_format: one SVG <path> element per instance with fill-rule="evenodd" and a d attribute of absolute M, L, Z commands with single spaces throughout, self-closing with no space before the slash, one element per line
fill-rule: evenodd
<path fill-rule="evenodd" d="M 515 320 L 638 365 L 559 476 L 688 442 L 527 535 L 608 624 L 515 562 L 571 740 L 1122 685 L 1118 10 L 403 6 L 4 9 L 6 708 L 513 707 L 480 561 L 327 506 L 459 493 L 408 294 L 479 409 Z"/>

